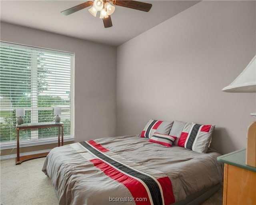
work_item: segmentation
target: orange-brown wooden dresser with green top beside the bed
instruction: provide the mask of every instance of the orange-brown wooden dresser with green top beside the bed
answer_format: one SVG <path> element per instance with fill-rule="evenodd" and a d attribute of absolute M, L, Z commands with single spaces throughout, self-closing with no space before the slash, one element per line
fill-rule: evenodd
<path fill-rule="evenodd" d="M 256 167 L 246 165 L 246 149 L 222 155 L 223 205 L 256 205 Z"/>

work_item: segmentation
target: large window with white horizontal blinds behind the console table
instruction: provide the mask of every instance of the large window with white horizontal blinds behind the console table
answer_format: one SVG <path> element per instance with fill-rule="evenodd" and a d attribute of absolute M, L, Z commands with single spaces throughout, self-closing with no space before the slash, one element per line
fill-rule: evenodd
<path fill-rule="evenodd" d="M 72 70 L 74 54 L 0 43 L 0 142 L 16 142 L 16 108 L 24 123 L 54 121 L 61 107 L 64 137 L 73 137 Z M 57 138 L 56 127 L 21 130 L 20 141 Z"/>

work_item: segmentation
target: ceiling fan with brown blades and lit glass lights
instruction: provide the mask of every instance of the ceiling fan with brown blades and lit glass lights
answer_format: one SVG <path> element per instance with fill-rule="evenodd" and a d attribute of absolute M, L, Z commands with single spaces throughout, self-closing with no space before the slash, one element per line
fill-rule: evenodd
<path fill-rule="evenodd" d="M 132 8 L 144 12 L 148 12 L 152 7 L 152 4 L 132 0 L 94 0 L 84 2 L 67 10 L 64 10 L 61 13 L 67 16 L 81 9 L 92 6 L 88 11 L 95 17 L 97 12 L 100 11 L 100 18 L 103 19 L 104 27 L 109 28 L 112 26 L 110 15 L 113 14 L 115 10 L 115 7 L 112 6 L 110 2 L 115 6 L 123 6 L 126 8 Z"/>

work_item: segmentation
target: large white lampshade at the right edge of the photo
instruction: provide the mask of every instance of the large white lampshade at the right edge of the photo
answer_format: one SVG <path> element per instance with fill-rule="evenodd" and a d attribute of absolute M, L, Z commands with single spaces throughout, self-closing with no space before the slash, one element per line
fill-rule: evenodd
<path fill-rule="evenodd" d="M 246 66 L 243 72 L 229 85 L 222 89 L 231 93 L 255 93 L 256 92 L 256 56 Z"/>

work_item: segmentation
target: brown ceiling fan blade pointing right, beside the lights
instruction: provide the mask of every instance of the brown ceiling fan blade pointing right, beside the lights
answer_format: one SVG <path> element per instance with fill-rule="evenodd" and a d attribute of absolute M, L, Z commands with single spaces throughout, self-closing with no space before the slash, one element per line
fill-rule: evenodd
<path fill-rule="evenodd" d="M 152 4 L 138 2 L 138 1 L 129 1 L 129 0 L 112 0 L 113 4 L 116 6 L 123 6 L 127 8 L 132 8 L 144 12 L 148 12 L 152 7 Z"/>

